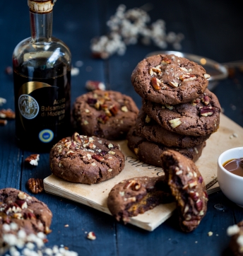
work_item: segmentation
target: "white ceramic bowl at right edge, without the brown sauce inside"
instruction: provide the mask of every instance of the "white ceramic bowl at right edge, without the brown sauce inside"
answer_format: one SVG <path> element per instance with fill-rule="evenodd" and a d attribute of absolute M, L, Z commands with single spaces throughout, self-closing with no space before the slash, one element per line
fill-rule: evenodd
<path fill-rule="evenodd" d="M 230 173 L 223 163 L 234 158 L 243 158 L 243 147 L 229 149 L 218 158 L 218 184 L 225 196 L 243 207 L 243 177 Z"/>

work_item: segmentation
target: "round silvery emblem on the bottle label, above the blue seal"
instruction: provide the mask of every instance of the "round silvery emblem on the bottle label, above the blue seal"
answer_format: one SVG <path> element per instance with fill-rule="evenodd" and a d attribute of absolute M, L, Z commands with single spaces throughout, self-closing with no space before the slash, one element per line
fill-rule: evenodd
<path fill-rule="evenodd" d="M 39 112 L 39 105 L 30 95 L 22 94 L 20 98 L 18 98 L 18 109 L 23 117 L 33 119 Z"/>

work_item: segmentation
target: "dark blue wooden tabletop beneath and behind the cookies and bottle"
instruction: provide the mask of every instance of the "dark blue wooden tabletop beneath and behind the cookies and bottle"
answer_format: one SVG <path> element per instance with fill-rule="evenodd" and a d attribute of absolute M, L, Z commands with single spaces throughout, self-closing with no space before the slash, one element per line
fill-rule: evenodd
<path fill-rule="evenodd" d="M 240 1 L 170 0 L 150 1 L 151 21 L 162 18 L 167 32 L 183 33 L 182 52 L 198 54 L 217 62 L 243 59 L 242 8 Z M 102 81 L 115 91 L 130 95 L 141 107 L 141 98 L 131 86 L 130 76 L 136 64 L 149 52 L 160 50 L 154 45 L 127 47 L 124 56 L 93 59 L 90 40 L 104 35 L 106 21 L 119 4 L 127 8 L 141 7 L 147 1 L 124 0 L 58 0 L 54 6 L 53 34 L 69 45 L 73 66 L 81 61 L 78 76 L 72 77 L 72 102 L 86 92 L 85 81 Z M 13 78 L 4 72 L 11 66 L 11 55 L 20 40 L 30 36 L 27 1 L 0 1 L 0 97 L 6 98 L 4 108 L 14 109 Z M 174 50 L 169 45 L 166 50 Z M 80 62 L 79 62 L 80 63 Z M 243 126 L 243 74 L 235 74 L 220 81 L 214 89 L 225 115 Z M 1 107 L 1 108 L 2 108 Z M 24 159 L 32 152 L 21 151 L 15 144 L 15 124 L 9 121 L 0 127 L 0 189 L 15 187 L 28 192 L 29 178 L 46 178 L 50 174 L 48 153 L 40 154 L 37 168 L 28 168 Z M 242 141 L 243 144 L 243 141 Z M 222 192 L 211 194 L 208 212 L 196 231 L 182 233 L 177 216 L 172 216 L 153 232 L 131 225 L 124 226 L 112 216 L 45 192 L 37 194 L 53 213 L 52 233 L 47 246 L 64 245 L 79 255 L 231 255 L 227 249 L 228 226 L 243 219 L 243 210 L 230 202 Z M 218 211 L 215 204 L 223 204 Z M 68 224 L 68 227 L 64 227 Z M 94 231 L 96 240 L 88 240 L 86 233 Z M 212 231 L 213 235 L 208 236 Z"/>

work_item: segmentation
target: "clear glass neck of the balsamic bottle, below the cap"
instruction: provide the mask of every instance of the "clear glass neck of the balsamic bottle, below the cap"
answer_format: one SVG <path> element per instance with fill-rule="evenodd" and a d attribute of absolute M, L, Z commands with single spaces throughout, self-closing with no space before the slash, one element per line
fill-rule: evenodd
<path fill-rule="evenodd" d="M 32 42 L 50 42 L 52 39 L 52 11 L 43 14 L 30 11 L 30 31 Z"/>

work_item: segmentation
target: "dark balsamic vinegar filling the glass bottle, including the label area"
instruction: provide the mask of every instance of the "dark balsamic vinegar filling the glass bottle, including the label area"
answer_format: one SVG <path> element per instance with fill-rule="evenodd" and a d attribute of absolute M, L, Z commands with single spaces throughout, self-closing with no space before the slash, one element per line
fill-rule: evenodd
<path fill-rule="evenodd" d="M 13 69 L 18 144 L 49 151 L 70 136 L 71 70 L 62 62 L 47 63 L 46 58 L 13 64 Z"/>

